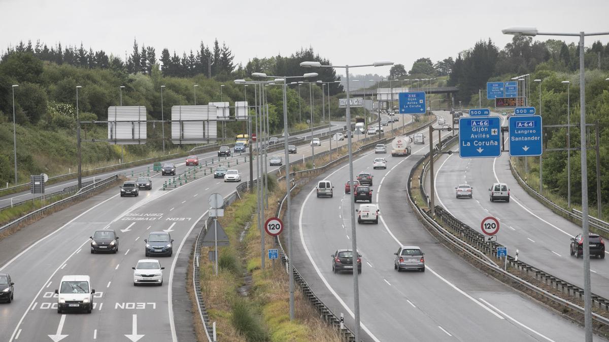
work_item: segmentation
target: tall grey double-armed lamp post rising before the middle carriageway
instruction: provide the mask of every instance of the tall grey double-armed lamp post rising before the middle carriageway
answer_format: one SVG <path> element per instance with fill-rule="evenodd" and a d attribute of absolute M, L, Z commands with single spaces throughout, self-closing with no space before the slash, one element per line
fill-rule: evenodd
<path fill-rule="evenodd" d="M 393 65 L 393 62 L 390 61 L 376 61 L 372 64 L 368 65 L 354 65 L 354 66 L 336 66 L 336 65 L 322 65 L 319 61 L 303 61 L 300 63 L 300 66 L 303 68 L 344 68 L 345 75 L 347 75 L 347 108 L 345 110 L 347 116 L 347 125 L 351 125 L 351 106 L 349 103 L 349 68 L 358 68 L 362 66 L 385 66 L 385 65 Z M 351 196 L 353 196 L 353 154 L 351 151 L 351 134 L 347 134 L 347 150 L 349 155 L 349 186 L 351 190 Z M 355 226 L 355 203 L 354 201 L 350 201 L 351 205 L 351 248 L 354 253 L 354 256 L 357 256 L 357 240 L 356 240 L 356 226 Z M 360 341 L 359 338 L 359 283 L 357 281 L 357 272 L 353 272 L 353 307 L 354 307 L 354 319 L 355 319 L 355 340 Z"/>

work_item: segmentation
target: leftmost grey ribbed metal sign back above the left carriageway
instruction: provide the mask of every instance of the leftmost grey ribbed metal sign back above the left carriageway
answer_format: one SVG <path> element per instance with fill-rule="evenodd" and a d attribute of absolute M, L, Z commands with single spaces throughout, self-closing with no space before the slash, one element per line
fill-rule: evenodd
<path fill-rule="evenodd" d="M 108 143 L 113 145 L 146 144 L 146 107 L 108 107 Z"/>

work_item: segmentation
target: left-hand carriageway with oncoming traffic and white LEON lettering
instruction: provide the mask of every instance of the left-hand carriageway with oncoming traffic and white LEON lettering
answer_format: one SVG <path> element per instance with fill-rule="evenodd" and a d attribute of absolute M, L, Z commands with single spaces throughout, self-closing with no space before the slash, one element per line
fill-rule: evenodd
<path fill-rule="evenodd" d="M 400 127 L 401 122 L 396 125 Z M 339 145 L 345 143 L 339 141 Z M 328 141 L 323 140 L 315 153 L 328 147 Z M 283 151 L 272 155 L 283 156 Z M 298 147 L 295 158 L 309 155 L 311 147 L 304 144 Z M 177 173 L 186 169 L 183 159 L 175 162 Z M 236 169 L 247 180 L 248 164 L 239 164 Z M 141 171 L 136 168 L 137 172 Z M 15 300 L 0 304 L 0 341 L 194 340 L 191 302 L 185 292 L 189 284 L 185 284 L 185 270 L 180 268 L 188 264 L 196 233 L 193 228 L 206 215 L 208 195 L 218 192 L 226 196 L 236 184 L 208 175 L 163 191 L 163 178 L 171 177 L 153 174 L 153 190 L 143 190 L 139 197 L 121 198 L 118 187 L 110 189 L 1 240 L 0 273 L 11 274 Z M 96 229 L 117 232 L 118 253 L 90 253 L 88 237 Z M 161 230 L 170 232 L 175 240 L 174 255 L 159 258 L 165 267 L 163 286 L 134 287 L 131 268 L 137 260 L 145 259 L 143 240 L 149 232 Z M 182 276 L 174 277 L 174 273 Z M 57 313 L 54 290 L 66 274 L 91 276 L 96 290 L 93 313 Z"/>

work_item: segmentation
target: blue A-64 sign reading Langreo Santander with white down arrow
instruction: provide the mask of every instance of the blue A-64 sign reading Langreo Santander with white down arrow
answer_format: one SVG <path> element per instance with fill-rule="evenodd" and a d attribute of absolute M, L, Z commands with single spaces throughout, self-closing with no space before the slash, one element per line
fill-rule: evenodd
<path fill-rule="evenodd" d="M 510 156 L 541 155 L 541 116 L 510 116 Z"/>

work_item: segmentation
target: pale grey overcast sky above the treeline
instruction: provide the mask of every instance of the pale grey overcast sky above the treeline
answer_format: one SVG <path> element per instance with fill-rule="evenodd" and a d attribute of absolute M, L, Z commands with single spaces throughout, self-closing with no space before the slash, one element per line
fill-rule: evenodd
<path fill-rule="evenodd" d="M 311 46 L 335 65 L 390 60 L 407 70 L 417 58 L 456 57 L 481 39 L 502 48 L 512 39 L 502 35 L 505 27 L 609 31 L 607 0 L 0 0 L 0 13 L 0 51 L 40 39 L 124 57 L 136 38 L 160 57 L 164 47 L 181 55 L 217 38 L 230 46 L 235 64 Z M 538 37 L 547 38 L 557 37 Z M 605 44 L 609 36 L 590 37 L 586 46 L 597 39 Z M 387 75 L 389 68 L 352 73 Z"/>

